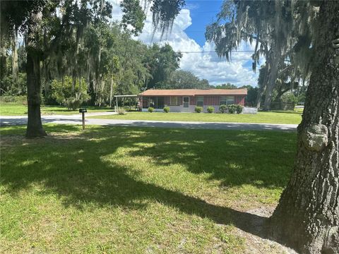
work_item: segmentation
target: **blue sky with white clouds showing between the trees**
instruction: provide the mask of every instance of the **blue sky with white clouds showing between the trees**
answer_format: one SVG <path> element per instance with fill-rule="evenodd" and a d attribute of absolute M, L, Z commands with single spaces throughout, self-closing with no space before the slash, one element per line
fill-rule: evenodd
<path fill-rule="evenodd" d="M 121 0 L 111 0 L 113 4 L 113 19 L 121 20 L 122 12 L 119 7 Z M 180 68 L 191 71 L 198 78 L 205 78 L 210 85 L 232 83 L 234 85 L 256 86 L 258 71 L 254 73 L 251 67 L 251 52 L 232 52 L 232 61 L 219 58 L 215 53 L 213 44 L 206 42 L 206 25 L 215 20 L 215 16 L 222 5 L 221 0 L 186 0 L 186 6 L 182 8 L 174 20 L 172 33 L 160 40 L 161 32 L 155 32 L 153 37 L 152 13 L 148 11 L 143 32 L 136 40 L 145 44 L 168 43 L 175 51 L 196 52 L 183 53 Z M 153 37 L 153 40 L 152 40 Z M 254 44 L 243 42 L 239 51 L 252 50 Z"/>

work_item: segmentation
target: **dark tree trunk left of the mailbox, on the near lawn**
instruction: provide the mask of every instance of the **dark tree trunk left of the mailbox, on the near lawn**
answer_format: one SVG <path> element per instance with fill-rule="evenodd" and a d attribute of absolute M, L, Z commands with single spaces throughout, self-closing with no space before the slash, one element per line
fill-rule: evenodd
<path fill-rule="evenodd" d="M 28 28 L 27 38 L 27 102 L 28 102 L 28 123 L 26 136 L 28 138 L 42 137 L 47 135 L 42 128 L 41 113 L 40 113 L 40 54 L 41 52 L 35 49 L 34 24 Z"/>

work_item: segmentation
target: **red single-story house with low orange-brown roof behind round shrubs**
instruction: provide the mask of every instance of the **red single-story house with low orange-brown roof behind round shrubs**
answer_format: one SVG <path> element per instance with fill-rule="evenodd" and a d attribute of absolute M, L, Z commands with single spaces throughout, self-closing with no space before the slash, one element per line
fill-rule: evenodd
<path fill-rule="evenodd" d="M 150 89 L 138 95 L 142 111 L 153 107 L 155 111 L 162 111 L 169 107 L 171 112 L 194 112 L 196 106 L 212 106 L 215 112 L 222 104 L 245 104 L 247 90 L 245 89 Z"/>

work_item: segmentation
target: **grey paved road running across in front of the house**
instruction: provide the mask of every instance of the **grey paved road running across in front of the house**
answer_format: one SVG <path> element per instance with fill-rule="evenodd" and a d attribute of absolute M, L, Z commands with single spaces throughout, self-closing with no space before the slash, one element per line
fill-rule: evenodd
<path fill-rule="evenodd" d="M 88 114 L 88 116 L 102 113 Z M 112 114 L 112 113 L 107 113 Z M 42 116 L 43 123 L 82 124 L 81 114 L 78 115 L 53 115 Z M 0 126 L 24 125 L 27 116 L 0 116 Z M 297 124 L 275 123 L 220 123 L 220 122 L 189 122 L 189 121 L 142 121 L 142 120 L 118 120 L 118 119 L 86 119 L 86 124 L 101 126 L 133 126 L 133 127 L 157 127 L 157 128 L 201 128 L 218 130 L 253 130 L 253 131 L 296 131 Z"/>

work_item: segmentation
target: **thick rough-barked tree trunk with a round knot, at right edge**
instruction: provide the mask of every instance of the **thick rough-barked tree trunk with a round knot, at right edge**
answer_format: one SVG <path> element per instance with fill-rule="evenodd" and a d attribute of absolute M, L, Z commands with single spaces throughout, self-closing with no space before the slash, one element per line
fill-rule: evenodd
<path fill-rule="evenodd" d="M 319 24 L 295 167 L 269 231 L 300 253 L 339 253 L 338 1 L 321 2 Z"/>

